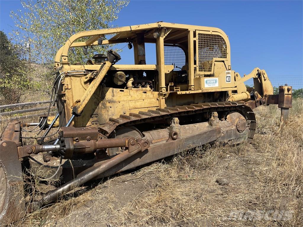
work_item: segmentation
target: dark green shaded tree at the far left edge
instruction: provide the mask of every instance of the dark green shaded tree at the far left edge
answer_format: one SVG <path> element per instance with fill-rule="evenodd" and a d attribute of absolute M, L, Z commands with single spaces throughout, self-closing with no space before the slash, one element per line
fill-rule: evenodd
<path fill-rule="evenodd" d="M 31 86 L 29 67 L 22 48 L 12 44 L 0 31 L 0 103 L 20 102 L 24 90 Z"/>

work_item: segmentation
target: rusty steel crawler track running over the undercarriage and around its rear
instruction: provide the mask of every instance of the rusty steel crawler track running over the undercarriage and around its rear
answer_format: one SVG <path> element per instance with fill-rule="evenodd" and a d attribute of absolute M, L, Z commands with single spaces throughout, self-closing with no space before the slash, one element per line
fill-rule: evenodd
<path fill-rule="evenodd" d="M 132 126 L 141 123 L 150 123 L 158 120 L 165 120 L 170 117 L 178 117 L 184 115 L 192 115 L 195 113 L 204 113 L 208 111 L 230 111 L 238 110 L 247 120 L 249 132 L 247 140 L 251 142 L 255 135 L 256 118 L 255 113 L 245 102 L 211 102 L 197 103 L 175 107 L 157 108 L 156 110 L 139 111 L 138 113 L 130 113 L 129 115 L 121 114 L 118 118 L 109 118 L 109 121 L 100 126 L 99 129 L 105 136 L 110 135 L 117 127 Z"/>

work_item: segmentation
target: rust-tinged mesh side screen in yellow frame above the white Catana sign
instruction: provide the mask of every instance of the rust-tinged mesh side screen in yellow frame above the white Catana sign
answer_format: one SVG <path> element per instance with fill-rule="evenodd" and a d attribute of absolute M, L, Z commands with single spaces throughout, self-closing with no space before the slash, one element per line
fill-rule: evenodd
<path fill-rule="evenodd" d="M 226 43 L 220 35 L 198 33 L 198 71 L 211 72 L 213 58 L 226 57 Z"/>

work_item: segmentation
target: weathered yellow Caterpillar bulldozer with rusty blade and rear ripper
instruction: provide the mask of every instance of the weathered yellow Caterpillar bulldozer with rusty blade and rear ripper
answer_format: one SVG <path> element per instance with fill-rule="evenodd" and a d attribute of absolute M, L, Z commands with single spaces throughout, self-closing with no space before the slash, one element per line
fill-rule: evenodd
<path fill-rule="evenodd" d="M 121 57 L 113 50 L 85 63 L 69 61 L 71 48 L 118 43 L 132 49 L 134 64 L 117 64 Z M 154 64 L 146 61 L 147 43 L 155 44 Z M 244 77 L 232 70 L 228 36 L 211 27 L 157 22 L 79 32 L 58 50 L 54 71 L 57 114 L 39 123 L 12 121 L 2 133 L 2 224 L 94 179 L 206 143 L 250 142 L 253 109 L 260 105 L 281 108 L 281 130 L 292 102 L 290 86 L 273 94 L 265 70 Z M 254 87 L 247 88 L 251 78 Z M 33 133 L 36 144 L 26 144 L 22 131 L 33 126 L 43 133 Z M 51 189 L 36 192 L 49 180 Z"/>

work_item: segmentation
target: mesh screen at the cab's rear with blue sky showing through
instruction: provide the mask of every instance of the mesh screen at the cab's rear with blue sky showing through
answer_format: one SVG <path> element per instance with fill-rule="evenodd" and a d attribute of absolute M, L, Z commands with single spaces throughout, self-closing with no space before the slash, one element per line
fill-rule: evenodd
<path fill-rule="evenodd" d="M 174 71 L 181 70 L 186 64 L 186 56 L 182 48 L 178 46 L 164 46 L 164 64 L 174 65 Z"/>

